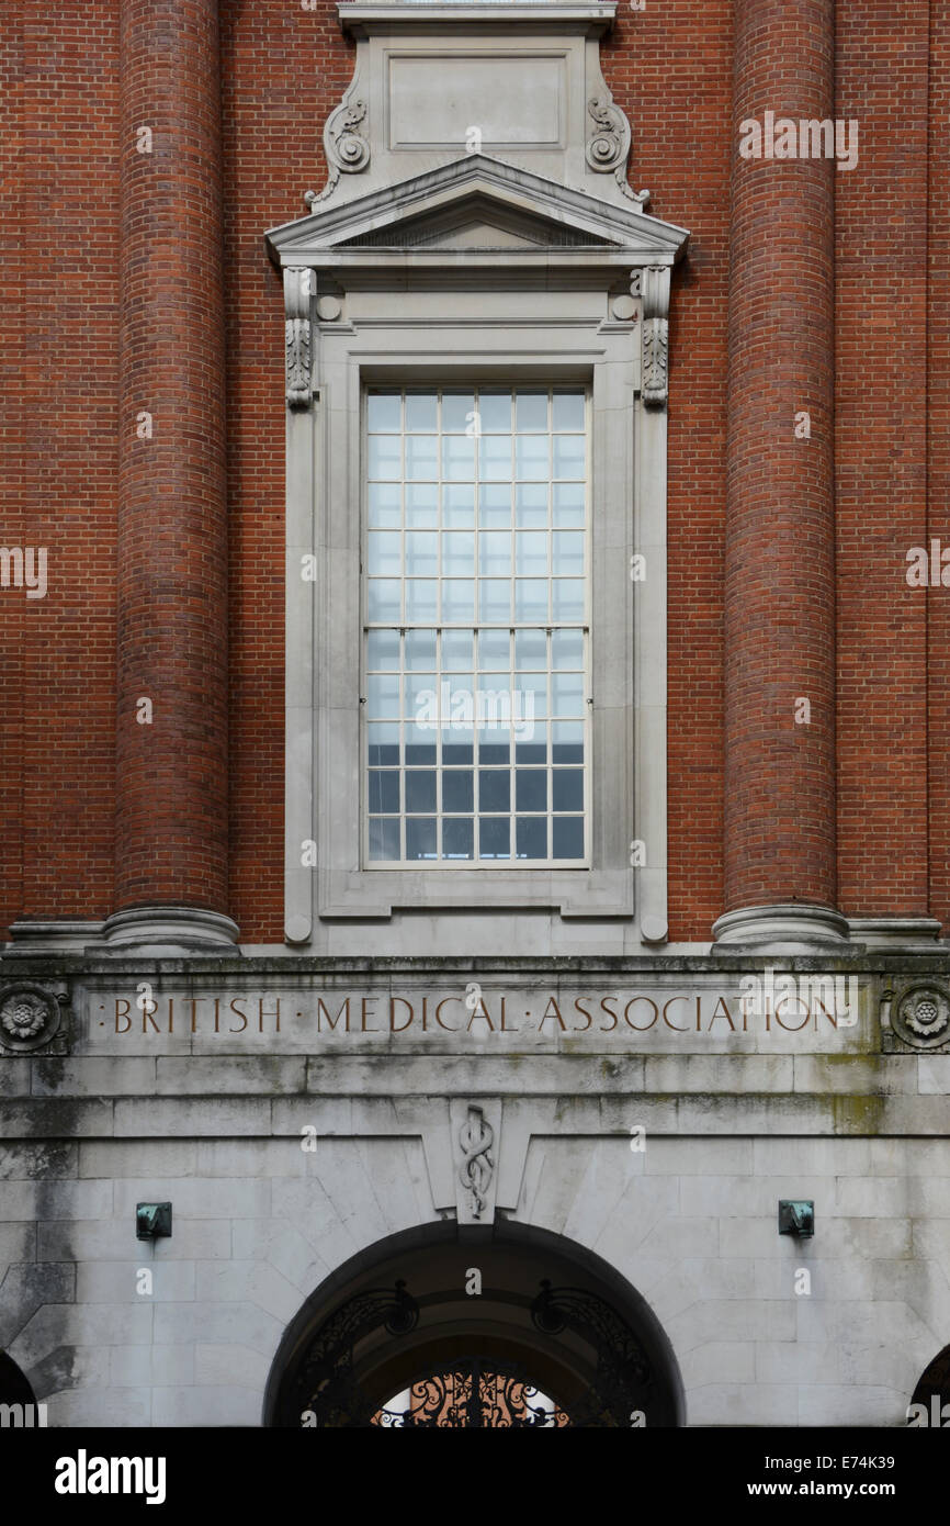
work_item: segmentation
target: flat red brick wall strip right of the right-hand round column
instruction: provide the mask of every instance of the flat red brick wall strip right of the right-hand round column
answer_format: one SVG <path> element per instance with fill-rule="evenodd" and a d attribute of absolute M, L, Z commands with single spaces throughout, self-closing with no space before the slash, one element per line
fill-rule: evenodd
<path fill-rule="evenodd" d="M 839 905 L 921 916 L 930 595 L 904 554 L 927 536 L 927 6 L 839 6 L 836 114 L 859 121 L 834 186 Z"/>

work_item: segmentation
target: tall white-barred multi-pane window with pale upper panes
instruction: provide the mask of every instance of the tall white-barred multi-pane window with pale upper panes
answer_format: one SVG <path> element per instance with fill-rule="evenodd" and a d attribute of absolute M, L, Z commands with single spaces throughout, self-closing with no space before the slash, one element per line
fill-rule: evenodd
<path fill-rule="evenodd" d="M 586 862 L 587 389 L 371 388 L 364 862 Z"/>

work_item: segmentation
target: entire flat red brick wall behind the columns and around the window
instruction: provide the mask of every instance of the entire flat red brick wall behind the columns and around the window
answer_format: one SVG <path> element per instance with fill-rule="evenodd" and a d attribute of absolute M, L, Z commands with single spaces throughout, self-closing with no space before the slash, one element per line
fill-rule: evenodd
<path fill-rule="evenodd" d="M 293 0 L 221 0 L 220 12 L 230 557 L 221 909 L 246 942 L 270 942 L 282 929 L 284 314 L 261 235 L 325 183 L 322 125 L 351 78 L 352 47 L 329 0 L 313 12 Z M 836 111 L 860 119 L 862 151 L 854 172 L 834 175 L 839 894 L 848 913 L 926 909 L 929 832 L 930 909 L 947 916 L 950 594 L 921 598 L 903 577 L 904 551 L 924 531 L 950 545 L 947 0 L 932 6 L 929 510 L 924 12 L 912 0 L 855 0 L 837 17 Z M 633 124 L 633 185 L 650 186 L 656 215 L 692 233 L 671 310 L 669 903 L 671 935 L 703 938 L 724 903 L 730 0 L 621 5 L 604 72 Z M 8 5 L 0 85 L 17 124 L 0 153 L 18 319 L 0 375 L 0 438 L 14 461 L 2 540 L 50 552 L 46 600 L 0 595 L 0 922 L 102 917 L 114 903 L 119 6 L 66 0 L 43 15 Z M 20 702 L 8 678 L 17 662 Z M 218 870 L 207 884 L 210 903 Z"/>

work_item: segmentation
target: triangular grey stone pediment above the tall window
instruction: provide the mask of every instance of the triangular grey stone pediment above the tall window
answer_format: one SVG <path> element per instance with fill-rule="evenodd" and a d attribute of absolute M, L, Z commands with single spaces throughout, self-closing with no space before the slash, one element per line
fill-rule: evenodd
<path fill-rule="evenodd" d="M 314 209 L 271 229 L 267 247 L 276 264 L 320 266 L 358 259 L 363 249 L 407 250 L 438 258 L 508 250 L 537 258 L 547 250 L 590 250 L 637 259 L 676 259 L 689 235 L 631 204 L 618 208 L 583 191 L 488 157 L 467 154 L 435 171 L 340 206 Z M 364 256 L 363 256 L 364 258 Z"/>

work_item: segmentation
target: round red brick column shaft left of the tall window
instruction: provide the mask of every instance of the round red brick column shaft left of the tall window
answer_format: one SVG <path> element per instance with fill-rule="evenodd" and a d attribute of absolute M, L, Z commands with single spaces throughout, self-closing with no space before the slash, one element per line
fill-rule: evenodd
<path fill-rule="evenodd" d="M 226 911 L 218 0 L 122 0 L 120 44 L 116 908 Z"/>

